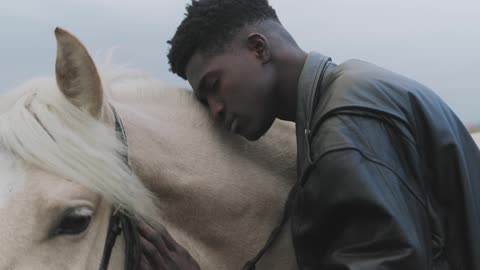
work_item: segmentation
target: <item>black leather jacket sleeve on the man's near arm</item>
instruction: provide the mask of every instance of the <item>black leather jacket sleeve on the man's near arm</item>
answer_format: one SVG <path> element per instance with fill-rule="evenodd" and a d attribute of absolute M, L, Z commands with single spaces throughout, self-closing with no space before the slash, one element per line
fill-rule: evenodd
<path fill-rule="evenodd" d="M 300 269 L 429 269 L 426 208 L 381 160 L 352 148 L 323 156 L 295 205 Z"/>

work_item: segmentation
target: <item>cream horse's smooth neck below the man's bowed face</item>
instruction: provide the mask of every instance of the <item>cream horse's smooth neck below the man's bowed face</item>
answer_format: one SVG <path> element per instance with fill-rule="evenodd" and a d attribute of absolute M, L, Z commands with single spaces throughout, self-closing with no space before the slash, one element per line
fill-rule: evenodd
<path fill-rule="evenodd" d="M 293 126 L 277 123 L 250 143 L 214 127 L 188 92 L 130 103 L 117 104 L 130 163 L 158 195 L 162 221 L 190 250 L 251 256 L 296 179 Z"/>

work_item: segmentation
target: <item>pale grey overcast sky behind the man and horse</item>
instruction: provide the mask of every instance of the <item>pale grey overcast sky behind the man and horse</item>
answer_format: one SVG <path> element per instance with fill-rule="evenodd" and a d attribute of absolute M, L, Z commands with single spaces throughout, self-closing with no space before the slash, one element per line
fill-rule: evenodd
<path fill-rule="evenodd" d="M 90 52 L 116 48 L 114 62 L 169 84 L 166 41 L 185 0 L 16 0 L 0 4 L 0 90 L 53 75 L 61 26 Z M 373 62 L 437 92 L 466 123 L 480 123 L 480 1 L 271 0 L 300 46 Z M 101 57 L 100 57 L 101 59 Z"/>

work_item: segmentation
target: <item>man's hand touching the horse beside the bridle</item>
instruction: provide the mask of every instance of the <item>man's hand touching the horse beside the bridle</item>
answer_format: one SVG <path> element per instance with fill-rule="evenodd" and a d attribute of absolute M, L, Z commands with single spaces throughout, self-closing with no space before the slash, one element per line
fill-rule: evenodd
<path fill-rule="evenodd" d="M 140 270 L 200 270 L 198 263 L 165 227 L 153 229 L 140 222 L 139 232 L 142 246 Z"/>

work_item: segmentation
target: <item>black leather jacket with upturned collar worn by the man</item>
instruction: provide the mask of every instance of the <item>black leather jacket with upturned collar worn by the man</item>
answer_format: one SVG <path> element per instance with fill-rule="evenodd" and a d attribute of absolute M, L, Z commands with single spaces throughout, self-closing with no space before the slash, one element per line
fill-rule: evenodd
<path fill-rule="evenodd" d="M 480 269 L 480 151 L 431 90 L 311 53 L 297 140 L 300 269 Z"/>

